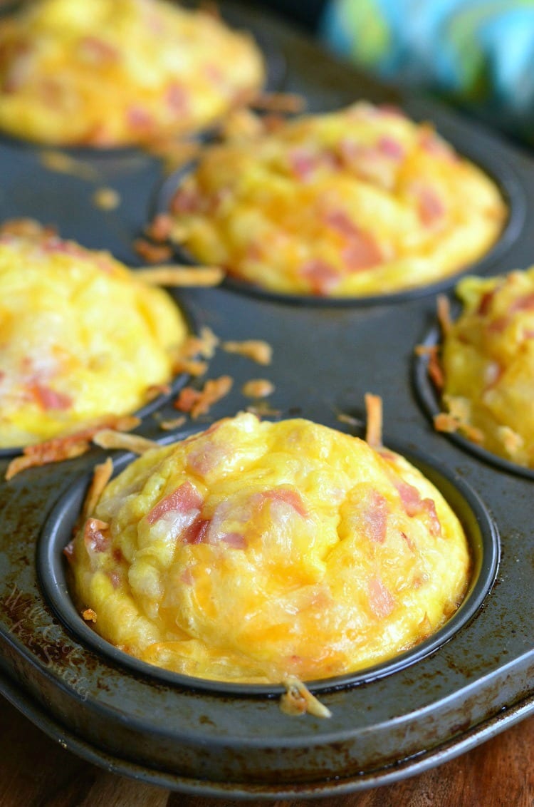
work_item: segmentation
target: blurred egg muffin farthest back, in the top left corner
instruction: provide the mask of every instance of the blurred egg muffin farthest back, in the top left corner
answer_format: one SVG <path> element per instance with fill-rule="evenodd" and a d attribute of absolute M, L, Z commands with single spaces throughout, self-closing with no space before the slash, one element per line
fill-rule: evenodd
<path fill-rule="evenodd" d="M 39 0 L 0 19 L 0 128 L 43 144 L 143 144 L 263 86 L 250 36 L 164 0 Z"/>

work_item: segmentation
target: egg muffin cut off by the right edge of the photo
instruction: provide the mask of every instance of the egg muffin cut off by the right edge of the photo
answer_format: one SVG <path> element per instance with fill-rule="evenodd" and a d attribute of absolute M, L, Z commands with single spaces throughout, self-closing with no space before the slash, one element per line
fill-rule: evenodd
<path fill-rule="evenodd" d="M 441 346 L 447 414 L 437 428 L 534 468 L 534 267 L 463 278 L 457 296 L 463 310 Z"/>

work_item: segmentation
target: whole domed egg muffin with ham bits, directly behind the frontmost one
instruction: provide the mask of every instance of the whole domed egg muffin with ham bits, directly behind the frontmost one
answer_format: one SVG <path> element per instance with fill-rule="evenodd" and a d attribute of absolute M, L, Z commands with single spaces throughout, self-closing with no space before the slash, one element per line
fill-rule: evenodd
<path fill-rule="evenodd" d="M 270 291 L 412 289 L 482 257 L 507 206 L 427 124 L 358 102 L 205 149 L 171 203 L 198 261 Z"/>

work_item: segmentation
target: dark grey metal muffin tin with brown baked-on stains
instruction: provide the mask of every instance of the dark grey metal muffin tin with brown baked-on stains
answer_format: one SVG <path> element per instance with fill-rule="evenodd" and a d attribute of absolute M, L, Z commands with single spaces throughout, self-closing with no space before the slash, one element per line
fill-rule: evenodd
<path fill-rule="evenodd" d="M 525 227 L 534 212 L 530 157 L 435 102 L 370 82 L 268 15 L 227 8 L 233 21 L 275 43 L 287 63 L 286 89 L 303 93 L 310 109 L 370 98 L 433 120 L 495 177 L 511 203 L 502 243 L 470 270 L 499 274 L 532 263 Z M 131 245 L 159 198 L 159 162 L 134 149 L 75 156 L 91 169 L 85 178 L 49 171 L 39 148 L 2 140 L 0 218 L 33 216 L 139 265 Z M 99 186 L 118 191 L 116 210 L 94 206 Z M 439 288 L 452 290 L 457 277 Z M 78 620 L 60 559 L 90 472 L 106 456 L 95 448 L 0 483 L 0 691 L 85 759 L 168 788 L 234 798 L 326 796 L 385 784 L 532 713 L 532 479 L 433 431 L 413 370 L 414 348 L 436 322 L 436 291 L 319 306 L 231 286 L 173 292 L 198 328 L 273 347 L 268 367 L 217 351 L 209 378 L 230 374 L 234 387 L 199 427 L 245 408 L 241 387 L 250 378 L 275 383 L 269 400 L 279 416 L 345 430 L 340 412 L 362 420 L 365 393 L 382 396 L 384 441 L 437 483 L 473 547 L 470 597 L 436 637 L 389 665 L 313 686 L 332 712 L 329 720 L 288 717 L 279 710 L 279 688 L 198 682 L 125 657 Z M 160 403 L 138 431 L 167 441 L 158 418 L 176 410 Z M 114 457 L 117 466 L 128 459 Z"/>

